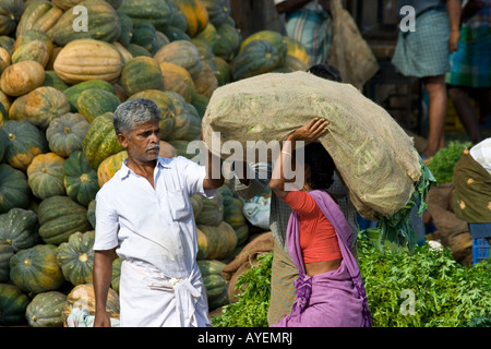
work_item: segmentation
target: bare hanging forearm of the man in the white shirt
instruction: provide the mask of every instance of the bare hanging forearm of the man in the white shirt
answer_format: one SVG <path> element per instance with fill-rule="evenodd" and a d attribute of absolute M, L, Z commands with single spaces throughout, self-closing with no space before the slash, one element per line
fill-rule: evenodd
<path fill-rule="evenodd" d="M 115 250 L 94 251 L 94 293 L 95 318 L 94 327 L 110 327 L 111 321 L 106 312 L 107 294 L 112 278 L 112 260 Z"/>

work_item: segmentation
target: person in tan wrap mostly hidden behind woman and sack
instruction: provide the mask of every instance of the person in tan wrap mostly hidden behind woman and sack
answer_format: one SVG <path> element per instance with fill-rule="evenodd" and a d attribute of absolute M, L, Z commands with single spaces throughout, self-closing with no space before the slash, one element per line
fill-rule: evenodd
<path fill-rule="evenodd" d="M 327 64 L 314 64 L 309 68 L 308 72 L 319 77 L 340 82 L 337 69 Z M 230 184 L 232 191 L 244 200 L 254 197 L 268 186 L 273 170 L 271 164 L 236 161 L 233 166 L 236 174 L 230 180 Z M 251 179 L 250 177 L 252 176 L 244 176 L 250 172 L 254 173 Z M 239 177 L 237 173 L 242 173 L 243 176 Z M 336 198 L 348 220 L 352 233 L 351 251 L 356 256 L 357 236 L 359 232 L 357 210 L 348 196 L 340 177 L 336 172 L 334 173 L 334 182 L 327 189 L 327 192 Z M 276 324 L 284 314 L 288 314 L 291 311 L 296 298 L 294 280 L 298 277 L 299 272 L 286 246 L 286 230 L 290 214 L 291 207 L 272 192 L 270 229 L 275 238 L 275 243 L 271 280 L 271 303 L 267 312 L 267 321 L 271 325 Z"/>

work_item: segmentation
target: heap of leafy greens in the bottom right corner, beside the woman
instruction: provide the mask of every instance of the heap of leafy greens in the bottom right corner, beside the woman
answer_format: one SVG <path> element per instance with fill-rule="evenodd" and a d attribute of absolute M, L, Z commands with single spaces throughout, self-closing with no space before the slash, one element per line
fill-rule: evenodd
<path fill-rule="evenodd" d="M 360 272 L 373 325 L 378 327 L 464 327 L 489 324 L 491 263 L 458 264 L 448 249 L 417 246 L 381 254 L 360 233 Z M 412 306 L 412 312 L 410 308 Z"/>

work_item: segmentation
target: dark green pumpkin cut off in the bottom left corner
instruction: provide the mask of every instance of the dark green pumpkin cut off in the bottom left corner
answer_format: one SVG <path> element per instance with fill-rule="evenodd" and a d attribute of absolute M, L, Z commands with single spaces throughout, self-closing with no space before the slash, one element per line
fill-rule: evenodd
<path fill-rule="evenodd" d="M 19 287 L 0 284 L 0 326 L 22 325 L 29 298 Z"/>

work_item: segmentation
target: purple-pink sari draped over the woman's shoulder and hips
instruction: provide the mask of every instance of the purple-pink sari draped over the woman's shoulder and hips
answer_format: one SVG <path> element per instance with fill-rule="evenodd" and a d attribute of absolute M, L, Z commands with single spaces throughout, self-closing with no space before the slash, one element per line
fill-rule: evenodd
<path fill-rule="evenodd" d="M 350 246 L 351 229 L 339 206 L 324 191 L 309 191 L 333 225 L 342 251 L 338 269 L 310 277 L 300 248 L 299 218 L 294 212 L 287 228 L 287 248 L 299 270 L 296 301 L 290 315 L 272 327 L 371 327 L 367 293 Z"/>

